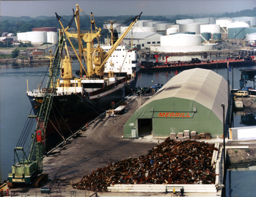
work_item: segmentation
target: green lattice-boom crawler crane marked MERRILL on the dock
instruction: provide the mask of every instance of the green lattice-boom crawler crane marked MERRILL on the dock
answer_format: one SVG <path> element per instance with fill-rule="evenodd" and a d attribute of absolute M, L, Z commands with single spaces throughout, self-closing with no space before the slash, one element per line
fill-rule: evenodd
<path fill-rule="evenodd" d="M 9 187 L 14 187 L 19 183 L 32 183 L 33 187 L 39 187 L 44 181 L 48 179 L 48 174 L 42 174 L 43 143 L 57 79 L 59 78 L 61 55 L 65 42 L 64 33 L 61 29 L 59 34 L 59 44 L 57 46 L 55 56 L 53 57 L 52 64 L 49 68 L 49 76 L 47 80 L 47 86 L 44 91 L 42 105 L 40 106 L 39 113 L 36 114 L 37 122 L 29 146 L 30 152 L 27 156 L 23 146 L 15 147 L 14 165 L 12 166 L 11 172 L 9 173 Z M 15 159 L 18 159 L 18 162 L 15 163 Z"/>

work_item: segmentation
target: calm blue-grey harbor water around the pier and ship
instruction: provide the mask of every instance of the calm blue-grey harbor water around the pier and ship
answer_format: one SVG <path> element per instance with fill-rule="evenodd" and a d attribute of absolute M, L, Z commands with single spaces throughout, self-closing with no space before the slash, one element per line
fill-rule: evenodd
<path fill-rule="evenodd" d="M 190 57 L 191 58 L 191 57 Z M 195 57 L 194 57 L 195 58 Z M 198 58 L 201 59 L 199 56 Z M 218 57 L 221 59 L 222 57 Z M 208 57 L 208 59 L 210 59 Z M 212 57 L 216 59 L 216 57 Z M 225 59 L 222 58 L 222 59 Z M 168 59 L 169 60 L 169 59 Z M 174 61 L 174 60 L 170 60 Z M 12 65 L 9 65 L 12 66 Z M 73 63 L 73 74 L 79 69 L 79 63 Z M 27 80 L 28 89 L 37 89 L 45 77 L 43 87 L 46 85 L 47 65 L 39 65 L 32 67 L 8 67 L 0 65 L 0 180 L 7 180 L 8 173 L 11 170 L 11 165 L 14 164 L 14 148 L 19 140 L 20 134 L 26 123 L 28 114 L 31 111 L 31 104 L 26 96 Z M 213 69 L 218 72 L 226 80 L 229 79 L 230 85 L 234 84 L 233 88 L 240 88 L 240 69 L 254 68 L 256 66 L 245 66 L 233 68 L 232 72 L 228 68 Z M 181 72 L 181 70 L 179 70 Z M 46 76 L 45 76 L 46 75 Z M 152 72 L 147 74 L 139 74 L 137 87 L 149 87 L 155 84 L 165 84 L 175 76 L 175 71 L 172 72 Z M 253 82 L 247 85 L 253 86 Z M 255 121 L 256 122 L 256 121 Z M 256 124 L 255 124 L 256 125 Z M 234 127 L 253 126 L 243 121 L 241 115 L 234 117 Z M 31 135 L 29 135 L 31 136 Z M 31 138 L 28 137 L 26 144 L 30 143 Z M 233 170 L 227 173 L 226 178 L 226 196 L 256 196 L 256 190 L 253 191 L 255 181 L 249 183 L 245 180 L 255 180 L 256 170 L 248 169 L 243 171 Z M 229 178 L 230 177 L 230 178 Z M 230 182 L 229 182 L 230 179 Z"/>

